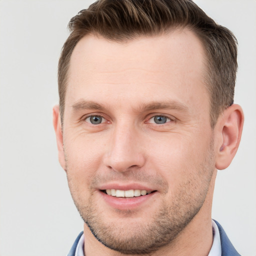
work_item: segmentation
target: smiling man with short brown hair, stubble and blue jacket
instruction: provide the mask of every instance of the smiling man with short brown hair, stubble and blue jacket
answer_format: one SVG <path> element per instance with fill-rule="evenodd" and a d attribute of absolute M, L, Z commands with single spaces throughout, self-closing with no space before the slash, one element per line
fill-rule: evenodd
<path fill-rule="evenodd" d="M 233 34 L 190 0 L 101 0 L 69 27 L 53 124 L 84 229 L 68 255 L 239 255 L 211 220 L 243 124 Z"/>

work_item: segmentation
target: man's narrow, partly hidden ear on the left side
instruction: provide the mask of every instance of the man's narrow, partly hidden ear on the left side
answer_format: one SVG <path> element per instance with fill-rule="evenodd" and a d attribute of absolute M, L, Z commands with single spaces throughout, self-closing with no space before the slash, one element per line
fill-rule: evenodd
<path fill-rule="evenodd" d="M 63 135 L 61 129 L 61 121 L 59 114 L 59 105 L 53 107 L 53 127 L 56 134 L 57 148 L 58 148 L 58 161 L 61 167 L 65 170 L 65 156 L 64 156 L 64 147 L 63 147 Z"/>

